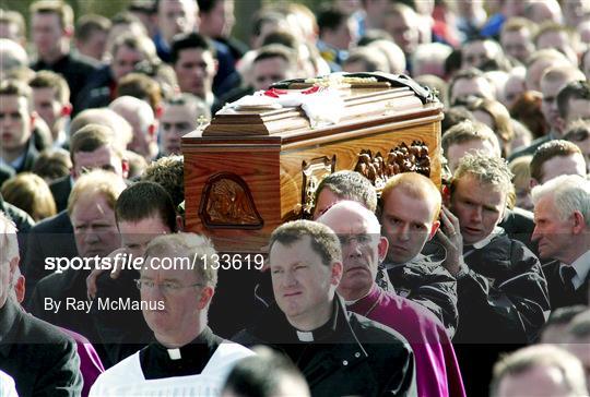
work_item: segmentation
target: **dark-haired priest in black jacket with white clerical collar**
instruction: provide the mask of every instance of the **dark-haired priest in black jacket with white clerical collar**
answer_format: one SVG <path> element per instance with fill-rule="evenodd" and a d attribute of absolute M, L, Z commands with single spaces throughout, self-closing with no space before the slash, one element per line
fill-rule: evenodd
<path fill-rule="evenodd" d="M 409 346 L 393 329 L 346 312 L 335 294 L 342 270 L 340 241 L 330 228 L 308 220 L 279 227 L 270 241 L 276 304 L 235 340 L 282 350 L 314 396 L 414 394 Z"/>

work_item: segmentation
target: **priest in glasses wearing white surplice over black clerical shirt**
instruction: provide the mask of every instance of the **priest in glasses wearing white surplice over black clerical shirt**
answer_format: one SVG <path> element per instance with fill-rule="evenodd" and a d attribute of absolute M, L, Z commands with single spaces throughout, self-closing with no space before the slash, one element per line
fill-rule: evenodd
<path fill-rule="evenodd" d="M 221 394 L 236 362 L 253 352 L 208 326 L 219 258 L 212 242 L 199 234 L 166 234 L 150 242 L 137 285 L 155 341 L 103 373 L 91 396 Z"/>

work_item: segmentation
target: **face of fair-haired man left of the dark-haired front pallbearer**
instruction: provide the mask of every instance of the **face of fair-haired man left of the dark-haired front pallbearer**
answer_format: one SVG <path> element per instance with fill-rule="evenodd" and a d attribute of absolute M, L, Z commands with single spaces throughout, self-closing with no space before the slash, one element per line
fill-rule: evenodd
<path fill-rule="evenodd" d="M 115 212 L 104 194 L 82 194 L 70 218 L 80 256 L 104 257 L 120 246 Z"/>

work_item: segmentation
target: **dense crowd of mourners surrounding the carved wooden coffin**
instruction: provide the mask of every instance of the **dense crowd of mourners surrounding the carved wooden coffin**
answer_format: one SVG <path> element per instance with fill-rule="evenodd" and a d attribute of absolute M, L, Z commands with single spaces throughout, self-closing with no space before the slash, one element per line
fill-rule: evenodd
<path fill-rule="evenodd" d="M 590 1 L 122 7 L 0 10 L 0 396 L 590 394 Z M 181 137 L 337 72 L 436 93 L 442 189 L 333 172 L 217 275 Z"/>

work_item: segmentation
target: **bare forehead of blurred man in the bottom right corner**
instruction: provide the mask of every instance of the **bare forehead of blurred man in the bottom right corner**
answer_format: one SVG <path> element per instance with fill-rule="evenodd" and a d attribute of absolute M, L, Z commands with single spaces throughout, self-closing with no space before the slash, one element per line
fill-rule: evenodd
<path fill-rule="evenodd" d="M 507 375 L 498 385 L 498 397 L 568 397 L 571 390 L 560 369 L 535 365 L 516 375 Z"/>

